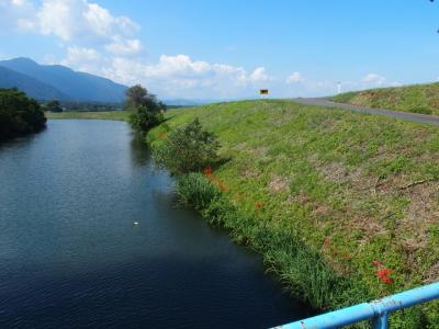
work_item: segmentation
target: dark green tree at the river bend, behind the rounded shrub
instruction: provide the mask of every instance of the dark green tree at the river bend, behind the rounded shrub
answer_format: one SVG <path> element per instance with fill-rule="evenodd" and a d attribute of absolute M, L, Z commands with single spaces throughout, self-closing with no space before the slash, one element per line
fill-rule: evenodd
<path fill-rule="evenodd" d="M 126 110 L 132 111 L 131 124 L 138 132 L 146 133 L 164 121 L 166 105 L 140 84 L 126 91 Z"/>

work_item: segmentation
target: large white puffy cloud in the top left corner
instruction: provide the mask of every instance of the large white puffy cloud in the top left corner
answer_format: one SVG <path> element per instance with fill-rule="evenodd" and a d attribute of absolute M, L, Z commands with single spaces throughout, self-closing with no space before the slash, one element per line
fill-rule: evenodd
<path fill-rule="evenodd" d="M 88 0 L 0 0 L 0 27 L 55 35 L 75 44 L 109 45 L 119 53 L 142 48 L 134 37 L 140 29 L 137 23 Z"/>

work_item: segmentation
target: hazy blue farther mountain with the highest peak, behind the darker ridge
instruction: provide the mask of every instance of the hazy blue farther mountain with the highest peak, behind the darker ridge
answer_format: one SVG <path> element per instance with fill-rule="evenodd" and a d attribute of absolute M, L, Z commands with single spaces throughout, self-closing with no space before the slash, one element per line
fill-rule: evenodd
<path fill-rule="evenodd" d="M 38 65 L 29 58 L 14 58 L 0 61 L 0 67 L 27 76 L 25 84 L 19 77 L 15 77 L 19 80 L 14 82 L 23 86 L 22 88 L 16 87 L 30 94 L 30 91 L 38 90 L 36 86 L 31 83 L 31 79 L 33 79 L 33 81 L 40 82 L 40 87 L 44 84 L 52 87 L 54 91 L 57 90 L 58 92 L 54 93 L 54 95 L 57 95 L 55 99 L 58 100 L 117 103 L 122 102 L 125 97 L 126 87 L 123 84 L 102 77 L 77 72 L 60 65 Z M 8 79 L 8 76 L 3 77 L 3 73 L 0 72 L 0 79 Z M 31 95 L 36 99 L 47 99 L 47 93 Z"/>

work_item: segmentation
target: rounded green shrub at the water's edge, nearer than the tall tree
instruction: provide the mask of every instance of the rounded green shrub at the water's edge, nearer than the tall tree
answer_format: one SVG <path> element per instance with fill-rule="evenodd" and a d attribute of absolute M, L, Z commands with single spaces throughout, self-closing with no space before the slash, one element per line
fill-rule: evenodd
<path fill-rule="evenodd" d="M 173 131 L 169 138 L 153 150 L 155 162 L 172 174 L 201 171 L 218 160 L 219 143 L 213 133 L 203 129 L 195 118 Z"/>

